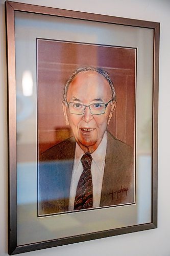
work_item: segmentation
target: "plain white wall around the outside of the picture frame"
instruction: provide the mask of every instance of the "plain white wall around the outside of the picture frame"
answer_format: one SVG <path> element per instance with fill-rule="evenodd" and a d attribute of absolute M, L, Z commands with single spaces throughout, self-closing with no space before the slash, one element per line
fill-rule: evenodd
<path fill-rule="evenodd" d="M 161 23 L 159 79 L 158 228 L 57 248 L 27 255 L 129 255 L 169 256 L 169 146 L 170 143 L 170 1 L 169 0 L 20 0 L 62 9 L 151 20 Z M 4 0 L 0 0 L 0 255 L 7 255 L 7 86 Z M 26 255 L 26 254 L 23 254 Z"/>

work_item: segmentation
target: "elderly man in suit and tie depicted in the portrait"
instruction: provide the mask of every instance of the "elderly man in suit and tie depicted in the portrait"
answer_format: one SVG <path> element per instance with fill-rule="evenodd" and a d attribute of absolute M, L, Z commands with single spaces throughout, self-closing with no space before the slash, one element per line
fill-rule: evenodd
<path fill-rule="evenodd" d="M 39 156 L 39 215 L 134 203 L 134 152 L 107 131 L 116 108 L 109 74 L 70 75 L 62 102 L 72 134 Z"/>

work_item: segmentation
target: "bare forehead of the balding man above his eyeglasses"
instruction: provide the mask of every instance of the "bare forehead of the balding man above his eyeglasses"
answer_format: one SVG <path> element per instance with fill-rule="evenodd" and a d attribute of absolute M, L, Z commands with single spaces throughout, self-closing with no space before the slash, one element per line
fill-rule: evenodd
<path fill-rule="evenodd" d="M 76 75 L 69 84 L 67 98 L 75 97 L 80 100 L 110 99 L 111 88 L 107 79 L 95 71 L 84 71 Z"/>

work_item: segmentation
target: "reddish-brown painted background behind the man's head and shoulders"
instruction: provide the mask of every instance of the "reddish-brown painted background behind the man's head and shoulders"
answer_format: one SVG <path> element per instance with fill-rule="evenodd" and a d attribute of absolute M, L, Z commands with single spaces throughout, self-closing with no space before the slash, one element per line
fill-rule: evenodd
<path fill-rule="evenodd" d="M 61 102 L 69 75 L 79 67 L 106 70 L 115 87 L 117 108 L 108 130 L 134 147 L 136 49 L 37 40 L 39 153 L 71 136 Z"/>

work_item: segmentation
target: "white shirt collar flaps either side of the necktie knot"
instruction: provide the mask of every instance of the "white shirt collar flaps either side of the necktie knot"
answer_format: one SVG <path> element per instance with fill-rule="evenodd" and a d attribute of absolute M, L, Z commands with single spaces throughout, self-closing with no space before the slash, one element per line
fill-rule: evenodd
<path fill-rule="evenodd" d="M 98 148 L 91 154 L 93 162 L 98 166 L 100 172 L 102 172 L 103 165 L 105 163 L 106 157 L 106 148 L 107 148 L 107 131 L 104 133 L 103 139 L 99 144 Z M 75 160 L 74 160 L 74 169 L 76 170 L 81 162 L 81 158 L 84 155 L 84 151 L 76 142 L 76 151 L 75 151 Z"/>

